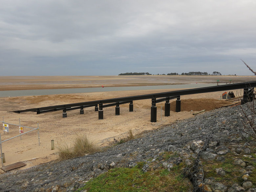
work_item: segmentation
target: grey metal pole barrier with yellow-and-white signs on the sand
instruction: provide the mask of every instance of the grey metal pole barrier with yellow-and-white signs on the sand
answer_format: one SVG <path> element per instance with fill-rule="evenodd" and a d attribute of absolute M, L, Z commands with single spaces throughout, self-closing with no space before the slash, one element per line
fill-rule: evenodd
<path fill-rule="evenodd" d="M 11 140 L 11 139 L 14 139 L 16 137 L 21 137 L 22 135 L 26 134 L 26 133 L 29 133 L 29 132 L 32 132 L 34 130 L 37 130 L 37 134 L 38 134 L 38 145 L 40 146 L 40 136 L 39 136 L 39 123 L 37 122 L 37 128 L 32 128 L 32 127 L 27 127 L 27 126 L 23 126 L 23 125 L 20 125 L 20 118 L 19 118 L 19 125 L 16 125 L 16 124 L 12 124 L 12 123 L 7 123 L 4 121 L 4 117 L 3 117 L 3 121 L 0 121 L 3 123 L 3 131 L 4 133 L 5 132 L 9 132 L 9 125 L 14 125 L 14 126 L 19 126 L 19 132 L 20 132 L 20 135 L 17 135 L 17 136 L 14 136 L 12 138 L 9 138 L 9 139 L 6 139 L 4 141 L 2 141 L 1 139 L 1 133 L 0 133 L 0 150 L 1 150 L 1 162 L 2 162 L 2 166 L 4 166 L 4 162 L 3 162 L 3 153 L 2 153 L 2 143 L 5 142 L 5 141 L 8 141 L 8 140 Z M 24 133 L 24 129 L 23 128 L 29 128 L 29 129 L 32 129 L 30 131 L 27 131 Z"/>

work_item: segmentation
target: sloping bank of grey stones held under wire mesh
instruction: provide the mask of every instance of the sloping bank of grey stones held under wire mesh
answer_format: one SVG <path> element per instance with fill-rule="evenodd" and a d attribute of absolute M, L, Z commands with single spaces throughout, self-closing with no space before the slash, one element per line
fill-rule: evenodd
<path fill-rule="evenodd" d="M 250 115 L 246 105 L 243 110 Z M 244 119 L 240 106 L 221 108 L 197 115 L 148 132 L 142 138 L 108 148 L 104 152 L 84 157 L 48 162 L 26 170 L 8 172 L 0 175 L 2 192 L 62 192 L 75 191 L 86 185 L 90 179 L 115 167 L 134 167 L 137 162 L 144 162 L 143 171 L 157 168 L 170 169 L 181 161 L 187 165 L 184 175 L 189 177 L 194 189 L 204 191 L 256 191 L 252 187 L 250 174 L 255 171 L 244 160 L 234 159 L 234 166 L 241 166 L 241 177 L 246 182 L 226 186 L 212 178 L 205 178 L 202 162 L 213 160 L 224 162 L 226 154 L 248 155 L 255 148 L 255 141 L 249 140 L 241 129 Z M 246 141 L 247 141 L 246 140 Z M 161 161 L 165 152 L 175 152 L 176 158 Z M 253 160 L 253 157 L 250 157 Z M 255 160 L 255 159 L 254 159 Z M 247 166 L 250 166 L 248 169 Z M 250 169 L 250 172 L 249 172 Z M 227 170 L 212 170 L 220 176 L 228 175 Z M 244 184 L 243 184 L 244 183 Z"/>

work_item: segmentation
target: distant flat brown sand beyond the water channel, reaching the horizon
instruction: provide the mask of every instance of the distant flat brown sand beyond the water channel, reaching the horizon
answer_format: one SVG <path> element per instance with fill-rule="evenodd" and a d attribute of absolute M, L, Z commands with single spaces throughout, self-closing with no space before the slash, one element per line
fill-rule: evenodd
<path fill-rule="evenodd" d="M 255 81 L 255 76 L 0 76 L 0 91 Z"/>

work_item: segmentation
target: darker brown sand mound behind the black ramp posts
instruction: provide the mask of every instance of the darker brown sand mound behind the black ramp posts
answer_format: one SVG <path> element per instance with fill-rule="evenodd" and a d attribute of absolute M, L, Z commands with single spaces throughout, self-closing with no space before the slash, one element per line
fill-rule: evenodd
<path fill-rule="evenodd" d="M 173 101 L 170 103 L 171 111 L 175 111 L 176 109 L 176 101 Z M 220 107 L 223 107 L 225 105 L 232 104 L 229 101 L 224 100 L 218 100 L 218 99 L 206 99 L 206 98 L 200 98 L 200 99 L 182 99 L 181 100 L 181 111 L 201 111 L 205 109 L 205 111 L 210 111 L 213 109 L 218 109 Z"/>

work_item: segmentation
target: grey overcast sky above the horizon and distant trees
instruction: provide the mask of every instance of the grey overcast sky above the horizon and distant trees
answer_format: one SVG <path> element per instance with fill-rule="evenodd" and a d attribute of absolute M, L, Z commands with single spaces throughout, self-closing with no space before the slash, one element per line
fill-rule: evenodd
<path fill-rule="evenodd" d="M 256 71 L 256 0 L 0 0 L 2 75 Z"/>

